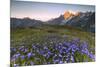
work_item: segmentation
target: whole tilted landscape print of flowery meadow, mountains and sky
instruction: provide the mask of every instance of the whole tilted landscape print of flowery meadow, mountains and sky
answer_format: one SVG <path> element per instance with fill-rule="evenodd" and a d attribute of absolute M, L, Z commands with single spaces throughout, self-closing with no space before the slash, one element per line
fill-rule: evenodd
<path fill-rule="evenodd" d="M 95 6 L 11 0 L 10 66 L 95 62 Z"/>

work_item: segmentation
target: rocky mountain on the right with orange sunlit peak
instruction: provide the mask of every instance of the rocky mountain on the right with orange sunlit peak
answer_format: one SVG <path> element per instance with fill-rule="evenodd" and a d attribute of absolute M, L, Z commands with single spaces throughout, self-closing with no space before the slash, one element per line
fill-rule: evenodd
<path fill-rule="evenodd" d="M 50 25 L 68 25 L 84 29 L 85 31 L 95 32 L 95 12 L 65 12 L 58 18 L 48 21 Z"/>

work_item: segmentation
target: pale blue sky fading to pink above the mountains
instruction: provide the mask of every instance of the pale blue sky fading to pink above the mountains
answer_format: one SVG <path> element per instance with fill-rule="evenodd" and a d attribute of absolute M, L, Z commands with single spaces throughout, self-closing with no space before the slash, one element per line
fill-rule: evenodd
<path fill-rule="evenodd" d="M 95 6 L 11 1 L 11 17 L 16 18 L 29 17 L 47 21 L 64 14 L 67 10 L 75 12 L 95 11 Z"/>

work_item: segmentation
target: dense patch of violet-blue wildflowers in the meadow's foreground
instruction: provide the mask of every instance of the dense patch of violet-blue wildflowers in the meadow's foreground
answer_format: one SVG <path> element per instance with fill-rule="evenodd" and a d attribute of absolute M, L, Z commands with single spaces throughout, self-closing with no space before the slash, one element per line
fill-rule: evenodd
<path fill-rule="evenodd" d="M 11 47 L 11 65 L 43 65 L 95 61 L 88 43 L 80 40 Z"/>

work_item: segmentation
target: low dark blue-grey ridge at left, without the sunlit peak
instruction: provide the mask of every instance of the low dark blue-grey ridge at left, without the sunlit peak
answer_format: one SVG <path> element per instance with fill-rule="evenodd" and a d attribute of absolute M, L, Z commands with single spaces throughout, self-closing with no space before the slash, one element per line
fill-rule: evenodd
<path fill-rule="evenodd" d="M 11 18 L 11 28 L 37 27 L 41 26 L 42 24 L 42 21 L 30 18 Z"/>

